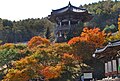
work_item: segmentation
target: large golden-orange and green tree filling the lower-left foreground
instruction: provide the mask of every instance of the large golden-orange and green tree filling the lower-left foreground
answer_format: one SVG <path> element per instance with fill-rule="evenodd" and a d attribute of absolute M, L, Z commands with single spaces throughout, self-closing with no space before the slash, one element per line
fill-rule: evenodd
<path fill-rule="evenodd" d="M 45 81 L 66 81 L 68 79 L 74 81 L 78 75 L 80 76 L 81 59 L 72 54 L 70 45 L 56 43 L 44 46 L 46 43 L 41 41 L 37 44 L 43 45 L 38 46 L 35 42 L 32 43 L 37 49 L 32 54 L 14 61 L 2 81 L 27 81 L 33 78 Z M 29 50 L 33 51 L 33 49 Z"/>

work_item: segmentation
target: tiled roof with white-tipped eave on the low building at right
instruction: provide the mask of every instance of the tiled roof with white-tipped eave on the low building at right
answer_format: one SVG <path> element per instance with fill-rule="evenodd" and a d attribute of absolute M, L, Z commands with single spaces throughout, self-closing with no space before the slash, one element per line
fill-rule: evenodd
<path fill-rule="evenodd" d="M 104 48 L 96 49 L 95 57 L 98 59 L 108 60 L 116 58 L 120 50 L 120 41 L 109 42 Z"/>

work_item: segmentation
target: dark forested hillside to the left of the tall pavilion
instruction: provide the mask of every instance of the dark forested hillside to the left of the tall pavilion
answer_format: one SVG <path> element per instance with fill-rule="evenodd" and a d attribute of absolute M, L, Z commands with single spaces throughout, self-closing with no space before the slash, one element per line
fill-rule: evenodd
<path fill-rule="evenodd" d="M 10 21 L 0 19 L 0 40 L 3 43 L 26 42 L 33 36 L 45 37 L 47 28 L 53 31 L 54 24 L 47 18 L 25 19 L 20 21 Z"/>

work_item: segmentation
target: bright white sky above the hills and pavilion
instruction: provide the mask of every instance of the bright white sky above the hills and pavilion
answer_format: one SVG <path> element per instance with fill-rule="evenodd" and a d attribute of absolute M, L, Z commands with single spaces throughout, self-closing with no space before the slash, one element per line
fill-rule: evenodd
<path fill-rule="evenodd" d="M 0 0 L 0 18 L 18 21 L 47 17 L 52 10 L 67 6 L 69 1 L 79 7 L 102 0 Z"/>

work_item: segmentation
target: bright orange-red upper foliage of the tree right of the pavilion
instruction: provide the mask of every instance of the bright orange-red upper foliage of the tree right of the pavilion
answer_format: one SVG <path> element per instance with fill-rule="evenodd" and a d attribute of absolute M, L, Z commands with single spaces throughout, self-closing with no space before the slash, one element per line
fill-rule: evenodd
<path fill-rule="evenodd" d="M 99 47 L 104 43 L 105 39 L 105 33 L 100 32 L 99 28 L 94 28 L 94 29 L 88 29 L 85 27 L 83 29 L 83 32 L 81 33 L 80 37 L 74 37 L 72 38 L 68 44 L 75 44 L 80 41 L 85 41 L 90 44 L 94 44 L 95 47 Z"/>

